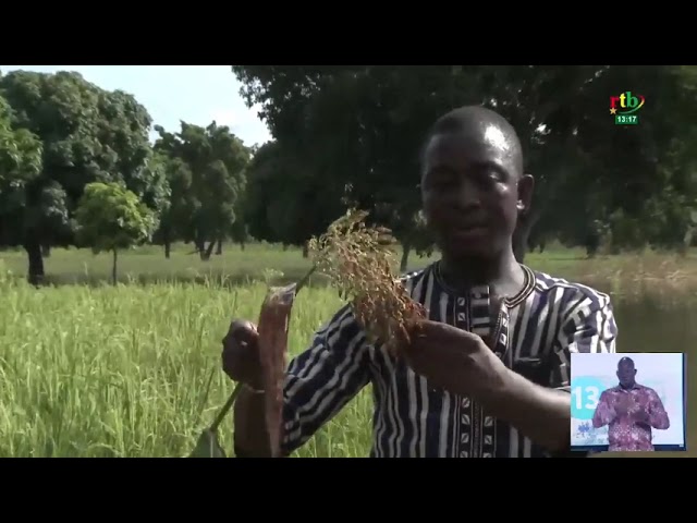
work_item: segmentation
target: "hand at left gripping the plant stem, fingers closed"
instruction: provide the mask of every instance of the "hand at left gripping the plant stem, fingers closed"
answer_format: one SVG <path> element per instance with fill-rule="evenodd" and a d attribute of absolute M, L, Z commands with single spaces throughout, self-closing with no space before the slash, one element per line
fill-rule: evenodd
<path fill-rule="evenodd" d="M 252 321 L 233 319 L 222 339 L 222 369 L 234 381 L 256 390 L 262 389 L 258 338 Z"/>

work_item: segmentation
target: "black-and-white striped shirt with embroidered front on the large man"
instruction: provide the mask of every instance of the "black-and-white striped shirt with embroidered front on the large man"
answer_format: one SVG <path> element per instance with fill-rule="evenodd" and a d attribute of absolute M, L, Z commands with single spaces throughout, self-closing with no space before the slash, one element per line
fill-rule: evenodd
<path fill-rule="evenodd" d="M 494 352 L 527 379 L 570 391 L 572 352 L 615 352 L 610 297 L 523 266 L 525 285 L 489 319 L 488 288 L 457 293 L 439 264 L 403 282 L 429 318 L 497 340 Z M 491 335 L 493 330 L 493 335 Z M 372 384 L 371 457 L 534 458 L 549 455 L 469 398 L 429 387 L 402 361 L 366 341 L 348 306 L 290 364 L 284 386 L 284 451 L 304 445 L 366 385 Z"/>

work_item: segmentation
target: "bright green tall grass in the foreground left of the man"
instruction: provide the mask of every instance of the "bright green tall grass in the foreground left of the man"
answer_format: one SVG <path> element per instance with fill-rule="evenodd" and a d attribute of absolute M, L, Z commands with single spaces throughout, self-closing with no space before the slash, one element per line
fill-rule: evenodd
<path fill-rule="evenodd" d="M 232 316 L 256 316 L 264 285 L 37 291 L 4 281 L 0 292 L 0 457 L 179 457 L 232 390 L 220 340 Z M 301 294 L 292 352 L 339 305 L 327 290 Z M 366 455 L 367 392 L 299 455 Z"/>

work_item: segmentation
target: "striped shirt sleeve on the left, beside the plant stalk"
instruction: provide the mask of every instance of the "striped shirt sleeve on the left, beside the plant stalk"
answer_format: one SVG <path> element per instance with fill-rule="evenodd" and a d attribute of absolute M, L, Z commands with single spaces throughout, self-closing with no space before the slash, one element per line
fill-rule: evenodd
<path fill-rule="evenodd" d="M 316 332 L 296 356 L 283 391 L 283 452 L 304 445 L 370 381 L 369 344 L 350 306 Z"/>

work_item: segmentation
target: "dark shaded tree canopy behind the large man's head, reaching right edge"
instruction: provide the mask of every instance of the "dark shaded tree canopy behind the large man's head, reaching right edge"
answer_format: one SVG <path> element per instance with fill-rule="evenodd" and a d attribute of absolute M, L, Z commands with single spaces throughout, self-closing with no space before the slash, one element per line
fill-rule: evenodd
<path fill-rule="evenodd" d="M 515 126 L 526 169 L 537 179 L 533 210 L 521 216 L 516 230 L 519 260 L 534 227 L 583 242 L 595 220 L 608 222 L 617 209 L 637 223 L 656 226 L 637 231 L 640 241 L 685 236 L 686 210 L 695 200 L 688 167 L 695 154 L 686 146 L 697 109 L 694 71 L 616 65 L 233 66 L 247 104 L 262 107 L 260 114 L 274 138 L 293 149 L 304 170 L 351 186 L 351 199 L 376 211 L 407 246 L 414 241 L 419 206 L 414 190 L 418 155 L 413 151 L 420 150 L 428 126 L 461 105 L 500 112 Z M 632 85 L 653 106 L 640 126 L 614 125 L 610 96 Z M 676 190 L 667 191 L 667 184 Z M 689 193 L 676 199 L 683 188 Z M 656 204 L 646 206 L 647 198 Z M 677 216 L 680 233 L 673 233 L 670 223 Z M 416 240 L 421 246 L 428 243 Z"/>

